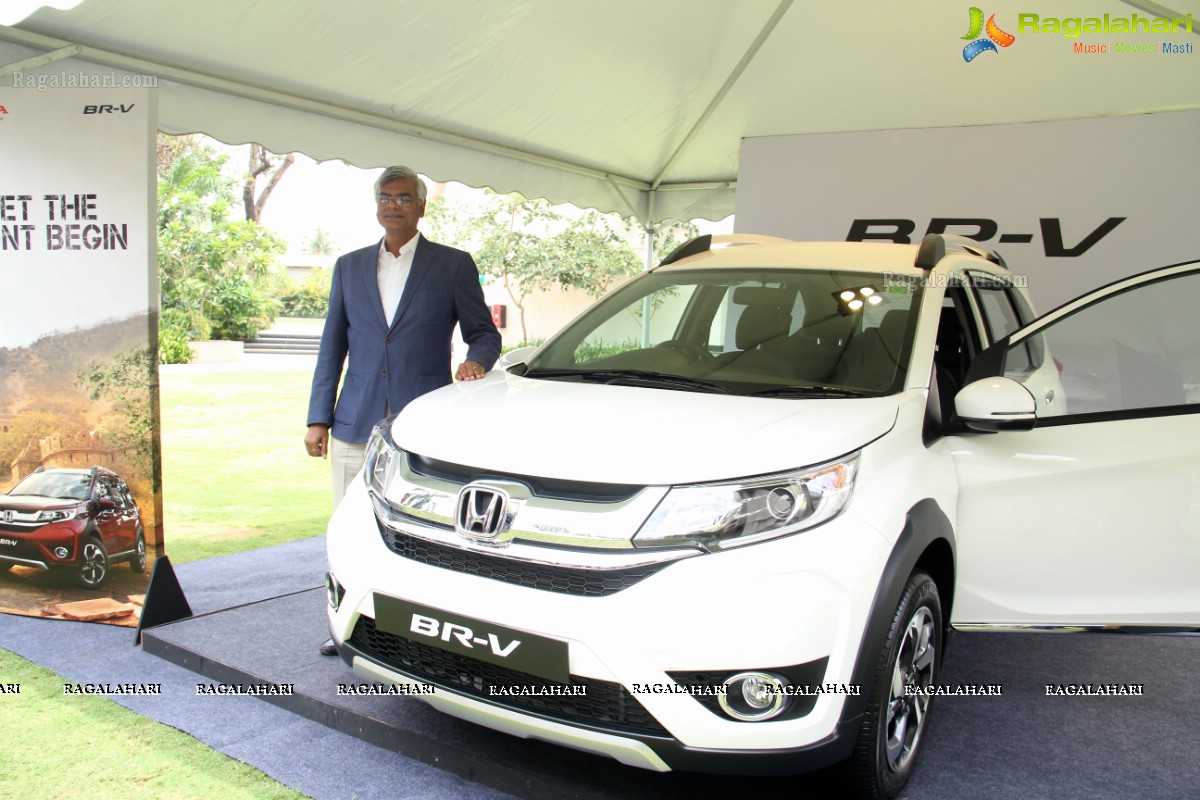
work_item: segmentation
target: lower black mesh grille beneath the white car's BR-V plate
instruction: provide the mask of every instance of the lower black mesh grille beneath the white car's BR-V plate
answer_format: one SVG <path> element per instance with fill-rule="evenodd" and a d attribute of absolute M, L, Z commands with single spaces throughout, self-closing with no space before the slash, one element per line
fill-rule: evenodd
<path fill-rule="evenodd" d="M 670 735 L 620 684 L 571 675 L 566 685 L 582 686 L 583 694 L 491 694 L 490 686 L 523 688 L 562 684 L 380 631 L 370 616 L 359 616 L 350 644 L 364 655 L 416 680 L 494 705 L 617 733 Z"/>

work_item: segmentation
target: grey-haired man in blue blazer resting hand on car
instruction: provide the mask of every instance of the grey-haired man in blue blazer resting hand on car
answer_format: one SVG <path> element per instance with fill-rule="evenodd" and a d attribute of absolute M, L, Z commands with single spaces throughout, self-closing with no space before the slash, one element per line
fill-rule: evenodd
<path fill-rule="evenodd" d="M 308 401 L 305 449 L 314 458 L 331 458 L 335 506 L 362 465 L 376 422 L 451 383 L 456 324 L 468 345 L 455 372 L 458 380 L 482 378 L 500 354 L 475 261 L 416 230 L 425 215 L 425 182 L 407 167 L 389 167 L 374 190 L 384 237 L 334 265 Z"/>

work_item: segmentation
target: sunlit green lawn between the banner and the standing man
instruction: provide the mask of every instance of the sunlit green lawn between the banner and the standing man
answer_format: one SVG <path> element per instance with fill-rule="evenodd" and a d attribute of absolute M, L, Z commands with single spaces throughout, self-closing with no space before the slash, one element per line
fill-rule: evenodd
<path fill-rule="evenodd" d="M 160 375 L 163 527 L 174 564 L 325 533 L 329 462 L 304 450 L 311 368 Z"/>

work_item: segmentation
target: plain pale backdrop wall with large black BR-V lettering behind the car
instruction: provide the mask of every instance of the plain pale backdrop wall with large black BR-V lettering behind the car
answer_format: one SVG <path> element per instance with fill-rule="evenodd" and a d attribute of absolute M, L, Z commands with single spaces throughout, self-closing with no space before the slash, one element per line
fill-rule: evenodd
<path fill-rule="evenodd" d="M 1200 258 L 1200 112 L 750 138 L 736 228 L 812 241 L 995 247 L 1049 311 Z"/>

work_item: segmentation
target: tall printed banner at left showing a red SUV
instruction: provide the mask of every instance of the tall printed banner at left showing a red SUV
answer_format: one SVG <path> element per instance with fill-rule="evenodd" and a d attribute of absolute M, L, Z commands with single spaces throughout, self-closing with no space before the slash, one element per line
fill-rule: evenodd
<path fill-rule="evenodd" d="M 152 103 L 0 89 L 0 612 L 136 626 L 162 552 Z"/>

